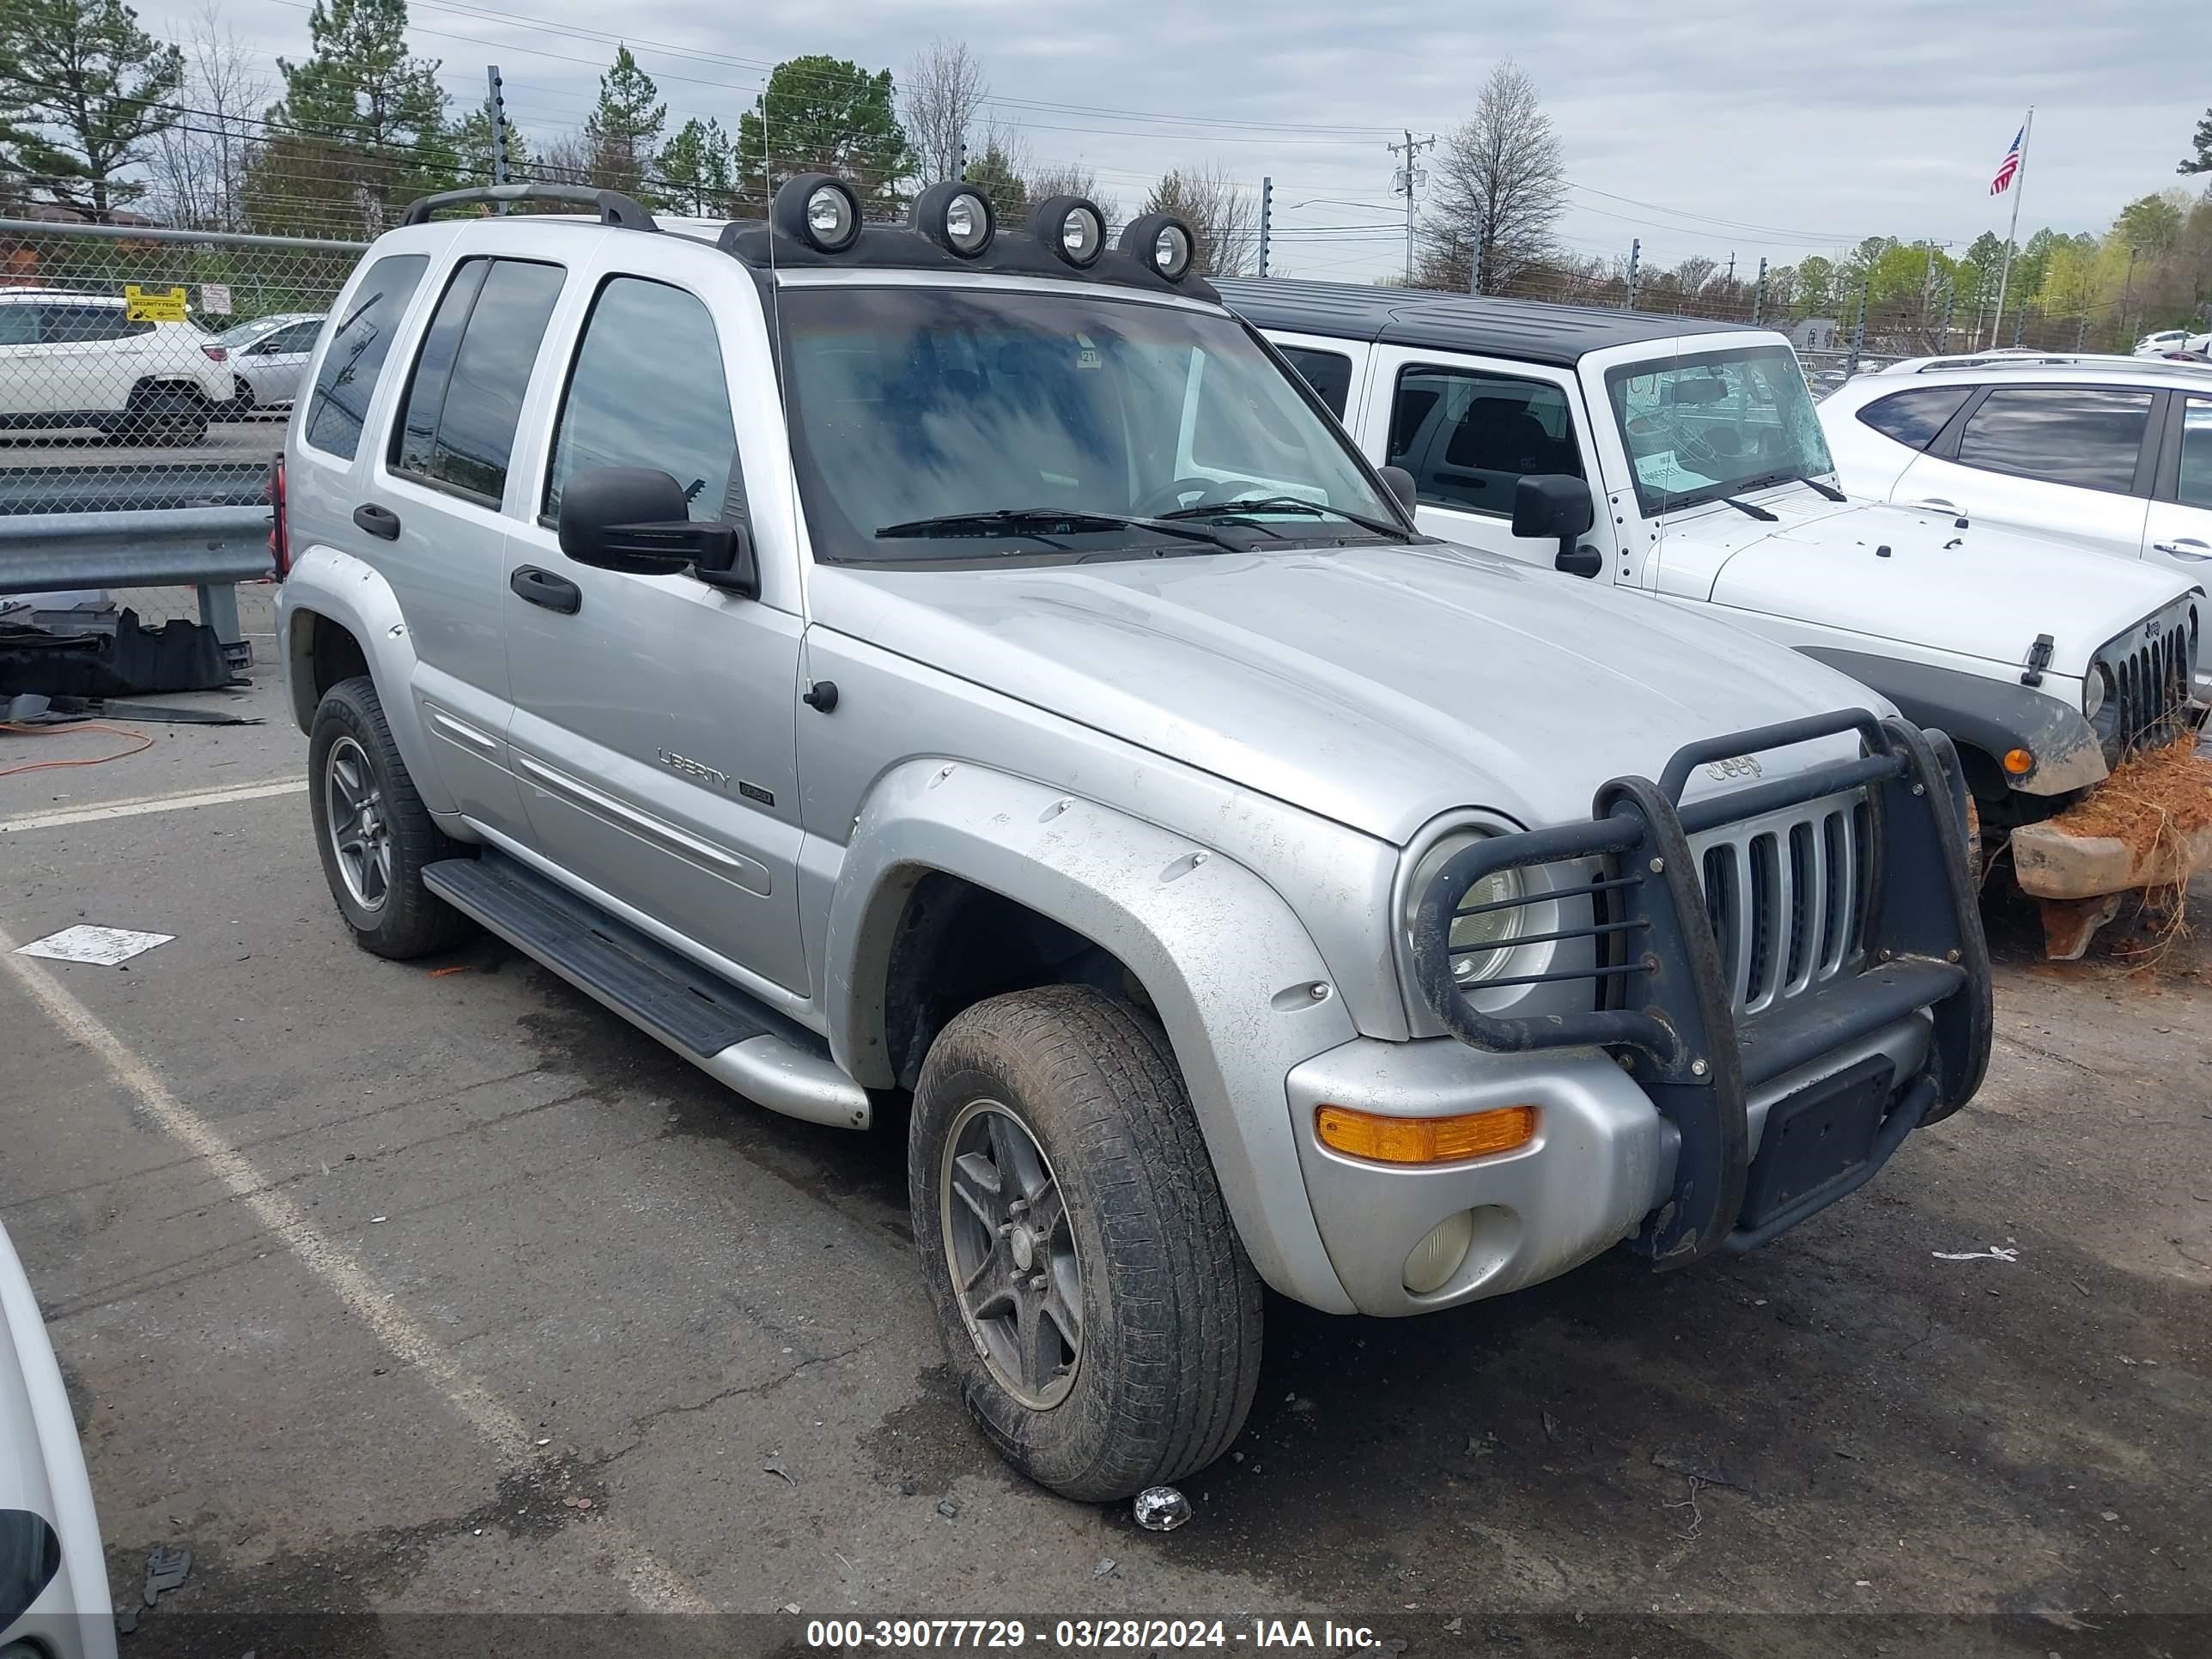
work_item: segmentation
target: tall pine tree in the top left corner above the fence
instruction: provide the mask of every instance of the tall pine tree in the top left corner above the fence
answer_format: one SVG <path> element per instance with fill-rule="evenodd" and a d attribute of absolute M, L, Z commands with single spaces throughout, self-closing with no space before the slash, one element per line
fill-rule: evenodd
<path fill-rule="evenodd" d="M 0 146 L 24 184 L 93 221 L 146 192 L 119 177 L 168 131 L 184 55 L 122 0 L 0 0 Z"/>

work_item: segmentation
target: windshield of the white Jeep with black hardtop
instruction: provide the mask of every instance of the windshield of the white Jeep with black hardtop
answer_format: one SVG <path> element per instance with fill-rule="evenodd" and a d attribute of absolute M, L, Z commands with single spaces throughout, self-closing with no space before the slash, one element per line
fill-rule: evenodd
<path fill-rule="evenodd" d="M 1624 363 L 1606 392 L 1646 513 L 1836 469 L 1787 345 Z"/>

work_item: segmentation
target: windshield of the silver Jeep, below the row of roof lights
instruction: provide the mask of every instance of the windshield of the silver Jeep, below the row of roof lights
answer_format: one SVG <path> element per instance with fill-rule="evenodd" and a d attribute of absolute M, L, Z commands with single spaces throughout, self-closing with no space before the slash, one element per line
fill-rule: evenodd
<path fill-rule="evenodd" d="M 1095 290 L 922 285 L 785 288 L 776 310 L 792 460 L 825 562 L 1316 546 L 1378 540 L 1336 515 L 1400 522 L 1228 316 Z M 1223 507 L 1237 529 L 1219 535 L 1119 522 L 1177 513 L 1188 529 L 1203 518 L 1188 509 L 1234 498 L 1261 504 Z"/>

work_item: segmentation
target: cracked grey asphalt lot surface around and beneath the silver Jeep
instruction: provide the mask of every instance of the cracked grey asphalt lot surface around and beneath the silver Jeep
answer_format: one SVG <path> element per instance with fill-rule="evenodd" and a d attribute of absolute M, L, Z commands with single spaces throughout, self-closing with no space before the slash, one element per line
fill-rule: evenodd
<path fill-rule="evenodd" d="M 1980 1102 L 1763 1252 L 1418 1321 L 1270 1303 L 1252 1427 L 1152 1535 L 969 1429 L 896 1124 L 763 1113 L 489 940 L 354 949 L 254 644 L 265 726 L 13 774 L 124 741 L 0 734 L 0 1219 L 117 1601 L 192 1551 L 126 1655 L 1108 1613 L 1232 1648 L 1303 1613 L 1411 1652 L 2208 1650 L 2212 894 L 2148 969 L 2000 927 Z M 175 938 L 13 953 L 73 922 Z M 703 1610 L 799 1617 L 641 1617 Z"/>

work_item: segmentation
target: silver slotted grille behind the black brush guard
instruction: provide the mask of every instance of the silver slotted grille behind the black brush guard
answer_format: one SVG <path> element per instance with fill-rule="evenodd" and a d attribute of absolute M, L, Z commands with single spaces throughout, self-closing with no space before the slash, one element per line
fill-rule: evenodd
<path fill-rule="evenodd" d="M 1874 889 L 1865 799 L 1812 801 L 1690 845 L 1739 1015 L 1765 1013 L 1858 964 Z"/>

